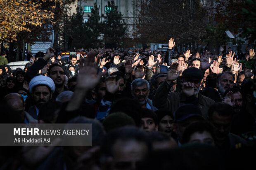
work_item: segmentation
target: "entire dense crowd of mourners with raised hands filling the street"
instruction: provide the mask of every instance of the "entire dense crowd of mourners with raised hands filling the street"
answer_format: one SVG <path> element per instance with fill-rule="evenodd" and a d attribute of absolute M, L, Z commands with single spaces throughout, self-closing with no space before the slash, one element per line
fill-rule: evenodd
<path fill-rule="evenodd" d="M 92 123 L 91 147 L 1 147 L 1 169 L 254 169 L 254 49 L 241 58 L 174 46 L 68 61 L 49 48 L 24 70 L 1 56 L 1 123 Z"/>

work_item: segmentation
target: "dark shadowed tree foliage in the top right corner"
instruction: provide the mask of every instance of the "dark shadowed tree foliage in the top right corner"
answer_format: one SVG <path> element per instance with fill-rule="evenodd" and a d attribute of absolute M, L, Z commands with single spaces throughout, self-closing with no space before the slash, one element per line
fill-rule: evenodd
<path fill-rule="evenodd" d="M 226 28 L 249 43 L 256 40 L 256 0 L 216 0 L 211 12 L 214 26 Z M 225 30 L 222 30 L 223 32 Z"/>

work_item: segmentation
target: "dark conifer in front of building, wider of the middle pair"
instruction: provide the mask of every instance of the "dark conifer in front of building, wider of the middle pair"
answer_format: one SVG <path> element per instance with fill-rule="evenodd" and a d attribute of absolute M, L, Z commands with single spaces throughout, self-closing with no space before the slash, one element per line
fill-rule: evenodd
<path fill-rule="evenodd" d="M 118 42 L 122 41 L 122 38 L 126 32 L 125 22 L 122 19 L 121 12 L 118 11 L 114 1 L 108 2 L 105 7 L 106 16 L 103 16 L 104 40 L 105 42 Z"/>

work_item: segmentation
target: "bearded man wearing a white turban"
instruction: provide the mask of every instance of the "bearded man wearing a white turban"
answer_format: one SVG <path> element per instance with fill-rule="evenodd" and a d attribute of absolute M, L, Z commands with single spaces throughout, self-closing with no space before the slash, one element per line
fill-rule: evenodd
<path fill-rule="evenodd" d="M 31 79 L 28 87 L 29 93 L 31 93 L 35 101 L 35 105 L 28 109 L 28 113 L 34 119 L 38 119 L 39 108 L 43 103 L 51 100 L 55 91 L 55 84 L 50 77 L 36 76 Z"/>

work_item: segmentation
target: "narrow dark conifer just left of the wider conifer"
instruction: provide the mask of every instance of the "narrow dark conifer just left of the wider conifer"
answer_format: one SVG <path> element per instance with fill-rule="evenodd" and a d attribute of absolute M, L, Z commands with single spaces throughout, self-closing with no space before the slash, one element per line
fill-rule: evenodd
<path fill-rule="evenodd" d="M 91 15 L 88 15 L 88 21 L 85 23 L 85 26 L 90 33 L 90 42 L 92 48 L 100 47 L 102 40 L 100 40 L 100 34 L 102 33 L 102 23 L 100 22 L 100 6 L 97 7 L 97 4 L 94 3 L 93 8 L 91 9 Z"/>

